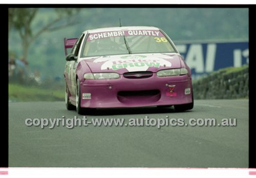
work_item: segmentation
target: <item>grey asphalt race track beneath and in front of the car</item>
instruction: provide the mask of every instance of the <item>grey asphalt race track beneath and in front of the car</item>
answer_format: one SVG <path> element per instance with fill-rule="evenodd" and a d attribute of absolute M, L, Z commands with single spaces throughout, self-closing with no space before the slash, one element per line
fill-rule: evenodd
<path fill-rule="evenodd" d="M 74 118 L 64 102 L 9 103 L 9 167 L 248 168 L 248 100 L 196 100 L 173 108 L 100 109 L 92 118 L 223 118 L 237 126 L 26 126 L 27 118 Z M 81 116 L 78 116 L 78 118 Z"/>

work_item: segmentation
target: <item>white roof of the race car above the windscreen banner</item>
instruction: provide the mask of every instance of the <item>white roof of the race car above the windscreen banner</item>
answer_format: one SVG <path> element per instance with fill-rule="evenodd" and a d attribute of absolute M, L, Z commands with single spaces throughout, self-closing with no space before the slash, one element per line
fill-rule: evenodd
<path fill-rule="evenodd" d="M 120 31 L 120 30 L 159 30 L 157 27 L 148 26 L 127 26 L 127 27 L 108 27 L 108 28 L 98 28 L 92 30 L 86 30 L 88 33 L 99 33 L 99 32 L 109 32 L 109 31 Z"/>

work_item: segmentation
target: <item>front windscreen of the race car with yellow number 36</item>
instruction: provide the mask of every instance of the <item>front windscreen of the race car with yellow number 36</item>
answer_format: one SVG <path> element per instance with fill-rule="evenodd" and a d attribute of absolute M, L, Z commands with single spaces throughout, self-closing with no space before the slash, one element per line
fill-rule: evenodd
<path fill-rule="evenodd" d="M 176 52 L 159 30 L 125 30 L 90 33 L 82 57 Z"/>

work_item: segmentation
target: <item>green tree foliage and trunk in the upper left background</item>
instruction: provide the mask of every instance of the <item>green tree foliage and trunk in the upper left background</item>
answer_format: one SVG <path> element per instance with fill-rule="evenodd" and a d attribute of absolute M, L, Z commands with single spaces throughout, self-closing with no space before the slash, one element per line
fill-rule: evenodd
<path fill-rule="evenodd" d="M 58 30 L 73 25 L 75 21 L 73 21 L 71 17 L 80 11 L 80 9 L 77 8 L 56 8 L 56 16 L 51 18 L 51 20 L 40 29 L 34 31 L 32 22 L 38 10 L 38 8 L 9 8 L 9 35 L 12 29 L 18 32 L 22 40 L 23 56 L 25 59 L 27 59 L 31 43 L 38 38 L 39 35 L 48 30 Z"/>

